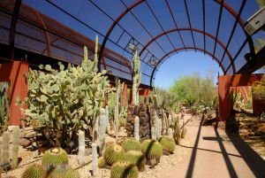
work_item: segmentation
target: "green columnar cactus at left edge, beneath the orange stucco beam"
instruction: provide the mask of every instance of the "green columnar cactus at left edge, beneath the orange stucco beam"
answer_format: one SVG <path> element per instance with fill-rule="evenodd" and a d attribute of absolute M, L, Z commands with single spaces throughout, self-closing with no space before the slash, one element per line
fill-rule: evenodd
<path fill-rule="evenodd" d="M 0 134 L 6 131 L 8 127 L 10 94 L 9 82 L 0 82 Z"/>

